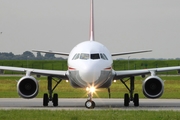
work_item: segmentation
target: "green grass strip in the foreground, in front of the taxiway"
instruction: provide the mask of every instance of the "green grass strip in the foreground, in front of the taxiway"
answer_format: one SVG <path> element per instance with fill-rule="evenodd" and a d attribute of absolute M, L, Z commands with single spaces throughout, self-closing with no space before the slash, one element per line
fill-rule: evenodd
<path fill-rule="evenodd" d="M 178 111 L 0 110 L 1 120 L 178 120 Z"/>

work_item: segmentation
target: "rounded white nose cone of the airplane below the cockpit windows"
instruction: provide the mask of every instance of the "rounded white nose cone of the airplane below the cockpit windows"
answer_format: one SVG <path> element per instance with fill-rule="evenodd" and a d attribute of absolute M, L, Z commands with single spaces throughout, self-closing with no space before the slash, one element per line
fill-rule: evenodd
<path fill-rule="evenodd" d="M 83 66 L 79 75 L 86 83 L 94 83 L 100 77 L 101 70 L 97 65 Z"/>

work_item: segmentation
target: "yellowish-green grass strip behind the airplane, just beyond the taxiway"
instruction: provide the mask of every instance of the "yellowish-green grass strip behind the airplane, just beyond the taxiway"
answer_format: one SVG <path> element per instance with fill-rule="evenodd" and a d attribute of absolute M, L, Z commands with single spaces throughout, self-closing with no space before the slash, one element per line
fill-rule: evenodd
<path fill-rule="evenodd" d="M 18 98 L 16 84 L 17 80 L 20 79 L 21 76 L 15 77 L 6 77 L 0 76 L 0 98 Z M 161 78 L 165 81 L 165 90 L 164 94 L 161 98 L 175 98 L 180 99 L 180 76 L 161 76 Z M 39 80 L 39 94 L 38 98 L 42 98 L 44 93 L 47 93 L 47 80 L 46 77 L 42 77 Z M 135 81 L 135 93 L 139 93 L 140 98 L 145 98 L 142 93 L 142 81 L 144 79 L 141 77 L 136 77 Z M 127 83 L 128 84 L 128 83 Z M 112 98 L 123 98 L 124 93 L 127 93 L 127 89 L 120 82 L 112 83 L 111 86 L 111 97 Z M 59 98 L 86 98 L 87 93 L 85 88 L 72 88 L 70 83 L 66 83 L 62 81 L 54 93 L 59 94 Z M 94 98 L 108 98 L 107 89 L 98 89 Z"/>

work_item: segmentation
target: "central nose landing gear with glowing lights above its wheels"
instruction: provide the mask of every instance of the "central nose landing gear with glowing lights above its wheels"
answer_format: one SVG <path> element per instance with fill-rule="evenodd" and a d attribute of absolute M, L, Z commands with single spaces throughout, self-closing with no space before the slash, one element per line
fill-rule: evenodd
<path fill-rule="evenodd" d="M 89 90 L 87 90 L 89 93 L 88 93 L 88 99 L 87 101 L 85 102 L 85 106 L 86 108 L 88 109 L 94 109 L 96 104 L 94 101 L 92 101 L 92 97 L 93 97 L 93 92 L 94 92 L 94 88 L 90 88 Z"/>

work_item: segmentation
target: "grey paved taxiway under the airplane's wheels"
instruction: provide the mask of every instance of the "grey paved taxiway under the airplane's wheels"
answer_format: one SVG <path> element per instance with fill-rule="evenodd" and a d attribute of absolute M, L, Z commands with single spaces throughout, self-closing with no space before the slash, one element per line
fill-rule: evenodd
<path fill-rule="evenodd" d="M 180 111 L 179 99 L 140 99 L 139 107 L 134 107 L 130 103 L 129 107 L 124 107 L 123 99 L 93 99 L 96 103 L 94 110 L 119 109 L 119 110 L 175 110 Z M 59 98 L 59 106 L 53 107 L 49 103 L 48 107 L 43 107 L 42 98 L 22 99 L 22 98 L 0 98 L 0 109 L 40 109 L 40 110 L 88 110 L 85 108 L 85 98 L 65 99 Z"/>

